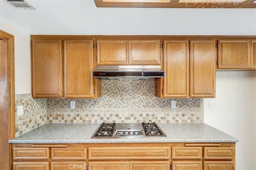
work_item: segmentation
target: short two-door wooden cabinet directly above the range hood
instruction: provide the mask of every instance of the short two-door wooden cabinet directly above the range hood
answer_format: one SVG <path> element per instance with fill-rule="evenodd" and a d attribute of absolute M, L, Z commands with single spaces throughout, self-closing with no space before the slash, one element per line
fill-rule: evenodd
<path fill-rule="evenodd" d="M 159 39 L 98 39 L 97 65 L 160 65 Z"/>

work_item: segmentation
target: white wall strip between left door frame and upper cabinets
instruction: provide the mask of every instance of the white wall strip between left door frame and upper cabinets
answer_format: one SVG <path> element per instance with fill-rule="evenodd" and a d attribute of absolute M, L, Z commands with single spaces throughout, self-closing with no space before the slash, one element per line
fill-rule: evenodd
<path fill-rule="evenodd" d="M 30 94 L 30 34 L 4 20 L 0 29 L 14 35 L 15 94 Z"/>

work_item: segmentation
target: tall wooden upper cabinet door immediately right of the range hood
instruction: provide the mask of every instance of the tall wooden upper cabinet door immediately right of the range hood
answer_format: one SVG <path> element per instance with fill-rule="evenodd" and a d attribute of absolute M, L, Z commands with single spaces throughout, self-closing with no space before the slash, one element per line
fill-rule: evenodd
<path fill-rule="evenodd" d="M 189 97 L 189 43 L 164 41 L 164 98 Z"/>

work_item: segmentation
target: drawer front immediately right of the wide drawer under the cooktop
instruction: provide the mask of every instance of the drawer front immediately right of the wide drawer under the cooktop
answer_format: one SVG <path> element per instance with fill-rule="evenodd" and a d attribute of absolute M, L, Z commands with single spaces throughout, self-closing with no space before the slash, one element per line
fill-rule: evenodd
<path fill-rule="evenodd" d="M 173 147 L 173 159 L 201 159 L 202 147 Z"/>

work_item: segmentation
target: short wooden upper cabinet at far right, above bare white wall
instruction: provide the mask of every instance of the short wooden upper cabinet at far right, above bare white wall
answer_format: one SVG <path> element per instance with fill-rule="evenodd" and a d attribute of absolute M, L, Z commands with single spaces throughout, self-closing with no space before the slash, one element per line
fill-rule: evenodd
<path fill-rule="evenodd" d="M 218 70 L 255 70 L 255 42 L 250 37 L 218 39 Z"/>

